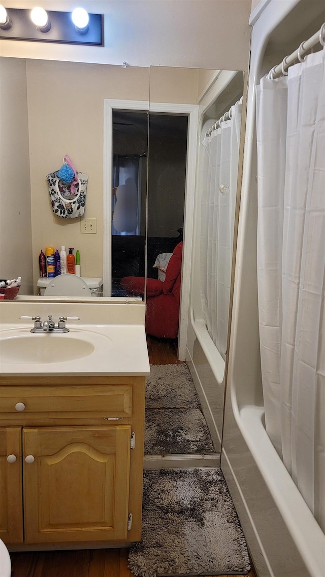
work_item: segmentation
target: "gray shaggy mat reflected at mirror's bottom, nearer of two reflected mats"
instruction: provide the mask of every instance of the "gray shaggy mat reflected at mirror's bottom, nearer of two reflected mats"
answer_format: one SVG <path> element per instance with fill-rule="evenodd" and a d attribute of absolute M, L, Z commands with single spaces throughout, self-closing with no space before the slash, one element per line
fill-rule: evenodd
<path fill-rule="evenodd" d="M 146 409 L 144 454 L 214 454 L 200 409 Z"/>

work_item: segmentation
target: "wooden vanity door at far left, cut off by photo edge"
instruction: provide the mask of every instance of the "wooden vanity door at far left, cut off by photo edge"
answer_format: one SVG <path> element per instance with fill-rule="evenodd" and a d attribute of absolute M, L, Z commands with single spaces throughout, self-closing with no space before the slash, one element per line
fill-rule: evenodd
<path fill-rule="evenodd" d="M 21 427 L 0 428 L 0 538 L 6 545 L 24 540 Z"/>

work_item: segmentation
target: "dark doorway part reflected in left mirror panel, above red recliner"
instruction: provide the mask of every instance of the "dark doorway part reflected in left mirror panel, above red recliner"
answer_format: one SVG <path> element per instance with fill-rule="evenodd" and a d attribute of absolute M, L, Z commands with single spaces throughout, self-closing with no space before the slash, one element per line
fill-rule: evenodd
<path fill-rule="evenodd" d="M 111 295 L 124 297 L 121 279 L 144 277 L 148 113 L 113 110 Z"/>

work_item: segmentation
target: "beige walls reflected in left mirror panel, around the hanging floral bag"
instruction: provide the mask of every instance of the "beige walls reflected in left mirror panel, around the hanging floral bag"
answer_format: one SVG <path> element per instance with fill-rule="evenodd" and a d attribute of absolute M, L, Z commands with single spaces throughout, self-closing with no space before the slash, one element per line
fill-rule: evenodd
<path fill-rule="evenodd" d="M 0 277 L 22 277 L 18 298 L 39 295 L 40 250 L 65 245 L 79 250 L 81 276 L 103 279 L 103 102 L 148 102 L 150 69 L 2 57 L 0 73 Z M 51 207 L 46 175 L 66 154 L 88 175 L 82 218 Z"/>

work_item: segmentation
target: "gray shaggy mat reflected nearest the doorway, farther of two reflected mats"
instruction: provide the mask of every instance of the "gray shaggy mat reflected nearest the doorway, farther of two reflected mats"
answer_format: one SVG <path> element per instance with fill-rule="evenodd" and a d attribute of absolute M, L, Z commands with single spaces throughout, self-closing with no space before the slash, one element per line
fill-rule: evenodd
<path fill-rule="evenodd" d="M 199 397 L 187 365 L 151 365 L 145 387 L 147 409 L 194 409 Z"/>

